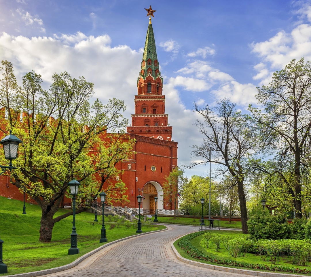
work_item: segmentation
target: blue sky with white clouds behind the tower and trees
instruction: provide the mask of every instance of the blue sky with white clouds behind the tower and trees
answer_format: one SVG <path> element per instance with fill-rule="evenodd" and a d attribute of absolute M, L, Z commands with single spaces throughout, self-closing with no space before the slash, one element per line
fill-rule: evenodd
<path fill-rule="evenodd" d="M 30 70 L 46 88 L 54 72 L 83 75 L 103 102 L 124 100 L 130 119 L 150 5 L 180 164 L 196 159 L 190 146 L 202 140 L 194 101 L 230 97 L 245 110 L 275 70 L 294 58 L 311 60 L 311 2 L 286 0 L 0 0 L 0 59 L 13 62 L 20 85 Z M 207 175 L 208 168 L 187 174 Z"/>

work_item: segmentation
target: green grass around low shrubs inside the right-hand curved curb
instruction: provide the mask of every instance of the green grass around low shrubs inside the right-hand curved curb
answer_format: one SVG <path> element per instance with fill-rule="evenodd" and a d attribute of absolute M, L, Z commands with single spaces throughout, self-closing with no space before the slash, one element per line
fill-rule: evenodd
<path fill-rule="evenodd" d="M 245 235 L 242 233 L 242 231 L 211 231 L 211 232 L 216 232 L 218 234 L 221 235 L 230 235 L 230 236 L 249 236 L 249 235 Z M 225 248 L 225 246 L 221 243 L 220 246 L 220 250 L 216 251 L 216 248 L 213 247 L 211 248 L 211 243 L 210 243 L 210 247 L 206 248 L 206 246 L 204 245 L 203 241 L 202 241 L 203 235 L 197 236 L 195 238 L 193 238 L 191 240 L 191 244 L 196 247 L 198 250 L 202 251 L 203 253 L 207 254 L 208 256 L 215 256 L 215 258 L 218 260 L 226 260 L 226 259 L 231 259 L 231 260 L 235 260 L 237 262 L 244 262 L 244 263 L 249 263 L 249 264 L 265 264 L 265 265 L 271 265 L 271 261 L 264 261 L 261 259 L 260 256 L 252 254 L 252 253 L 247 253 L 245 257 L 237 257 L 237 258 L 233 258 L 231 255 L 229 255 L 228 250 Z M 179 241 L 179 240 L 178 240 Z M 174 242 L 174 246 L 177 249 L 177 251 L 179 252 L 179 254 L 189 260 L 196 260 L 202 263 L 208 263 L 208 264 L 213 264 L 213 265 L 218 265 L 216 263 L 213 262 L 206 262 L 206 261 L 202 261 L 202 260 L 197 260 L 194 259 L 192 257 L 189 257 L 187 255 L 187 253 L 185 253 L 179 246 L 178 246 L 178 241 Z M 287 257 L 280 257 L 280 259 L 278 260 L 278 262 L 276 262 L 277 265 L 284 265 L 286 267 L 293 267 L 293 268 L 299 268 L 299 269 L 307 269 L 307 270 L 311 270 L 311 263 L 309 263 L 308 266 L 304 265 L 304 266 L 299 266 L 296 264 L 292 264 L 290 261 L 287 260 Z M 225 265 L 228 267 L 234 267 L 234 268 L 238 268 L 236 266 L 230 266 L 230 265 Z M 251 269 L 251 270 L 256 270 L 256 269 Z M 262 270 L 260 270 L 262 271 Z M 264 270 L 265 271 L 265 270 Z M 311 274 L 308 274 L 311 275 Z"/>

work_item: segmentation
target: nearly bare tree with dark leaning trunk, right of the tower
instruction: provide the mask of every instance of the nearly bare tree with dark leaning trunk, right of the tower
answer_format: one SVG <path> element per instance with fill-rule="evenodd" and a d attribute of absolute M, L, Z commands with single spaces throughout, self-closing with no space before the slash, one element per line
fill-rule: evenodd
<path fill-rule="evenodd" d="M 241 223 L 244 234 L 247 234 L 246 195 L 244 179 L 250 159 L 256 149 L 256 138 L 250 132 L 250 123 L 246 122 L 237 111 L 236 105 L 224 99 L 215 108 L 206 105 L 200 108 L 195 104 L 195 112 L 200 114 L 202 121 L 197 120 L 197 127 L 204 136 L 200 146 L 193 146 L 193 155 L 203 159 L 202 162 L 216 163 L 225 166 L 234 177 L 239 191 Z"/>

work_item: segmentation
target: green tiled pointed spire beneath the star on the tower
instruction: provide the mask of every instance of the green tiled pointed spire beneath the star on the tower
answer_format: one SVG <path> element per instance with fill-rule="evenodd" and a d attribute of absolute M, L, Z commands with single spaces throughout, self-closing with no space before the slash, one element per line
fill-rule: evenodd
<path fill-rule="evenodd" d="M 151 64 L 148 64 L 148 60 L 151 60 Z M 155 65 L 154 61 L 157 61 L 157 64 Z M 145 63 L 144 63 L 145 61 Z M 145 65 L 143 65 L 145 64 Z M 160 71 L 158 74 L 156 74 L 156 69 L 159 69 L 159 62 L 156 55 L 156 41 L 153 34 L 152 24 L 151 21 L 149 22 L 147 36 L 146 36 L 146 43 L 145 43 L 145 49 L 144 49 L 144 55 L 142 56 L 142 67 L 141 67 L 141 75 L 143 79 L 146 78 L 148 75 L 148 68 L 152 69 L 152 76 L 156 79 L 156 75 L 160 74 Z M 144 70 L 144 74 L 142 74 L 142 70 Z"/>

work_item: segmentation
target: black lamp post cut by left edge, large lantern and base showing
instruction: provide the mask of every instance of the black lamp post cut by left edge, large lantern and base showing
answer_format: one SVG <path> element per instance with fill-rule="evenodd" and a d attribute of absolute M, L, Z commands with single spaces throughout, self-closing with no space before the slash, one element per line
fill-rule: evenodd
<path fill-rule="evenodd" d="M 1 172 L 0 175 L 2 173 L 5 172 L 5 170 L 12 170 L 12 169 L 16 169 L 16 167 L 14 167 L 12 165 L 12 160 L 15 160 L 17 158 L 17 150 L 18 150 L 18 145 L 21 143 L 22 141 L 12 135 L 12 131 L 10 130 L 10 135 L 4 137 L 0 143 L 3 145 L 3 150 L 4 150 L 4 157 L 6 160 L 10 160 L 9 166 L 4 166 L 4 165 L 0 165 L 1 168 Z M 2 261 L 2 243 L 4 241 L 0 239 L 0 273 L 7 273 L 7 265 L 5 263 L 3 263 Z"/>

